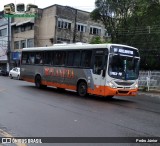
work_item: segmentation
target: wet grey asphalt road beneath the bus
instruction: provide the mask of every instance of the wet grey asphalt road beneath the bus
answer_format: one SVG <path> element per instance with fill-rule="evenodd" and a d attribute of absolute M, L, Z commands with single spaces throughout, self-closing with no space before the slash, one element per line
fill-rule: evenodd
<path fill-rule="evenodd" d="M 14 137 L 158 137 L 160 96 L 82 98 L 0 76 L 0 130 Z"/>

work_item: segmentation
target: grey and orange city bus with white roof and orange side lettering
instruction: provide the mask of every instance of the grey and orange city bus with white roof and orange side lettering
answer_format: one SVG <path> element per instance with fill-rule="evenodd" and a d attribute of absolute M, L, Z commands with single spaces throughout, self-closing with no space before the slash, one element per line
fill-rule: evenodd
<path fill-rule="evenodd" d="M 20 74 L 37 88 L 53 86 L 80 96 L 135 96 L 139 63 L 138 49 L 127 45 L 55 44 L 23 48 Z"/>

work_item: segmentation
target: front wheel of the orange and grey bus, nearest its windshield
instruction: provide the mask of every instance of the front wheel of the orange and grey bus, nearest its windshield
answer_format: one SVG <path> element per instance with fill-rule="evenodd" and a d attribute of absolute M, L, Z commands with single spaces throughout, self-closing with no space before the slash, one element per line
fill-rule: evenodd
<path fill-rule="evenodd" d="M 78 95 L 82 97 L 87 95 L 87 84 L 84 81 L 78 84 L 77 92 L 78 92 Z"/>

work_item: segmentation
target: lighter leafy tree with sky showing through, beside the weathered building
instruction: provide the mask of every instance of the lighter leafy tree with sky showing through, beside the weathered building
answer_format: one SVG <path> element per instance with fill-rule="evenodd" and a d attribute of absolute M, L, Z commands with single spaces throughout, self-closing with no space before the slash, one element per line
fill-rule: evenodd
<path fill-rule="evenodd" d="M 102 21 L 111 34 L 111 41 L 117 43 L 117 28 L 121 24 L 127 27 L 127 18 L 130 17 L 134 4 L 133 0 L 96 0 L 96 9 L 92 11 L 91 18 Z"/>

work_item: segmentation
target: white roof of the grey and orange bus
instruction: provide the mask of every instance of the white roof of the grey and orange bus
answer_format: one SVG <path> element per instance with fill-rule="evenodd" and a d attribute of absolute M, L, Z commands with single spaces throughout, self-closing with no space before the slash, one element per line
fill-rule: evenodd
<path fill-rule="evenodd" d="M 127 46 L 127 45 L 121 45 L 121 44 L 55 44 L 55 45 L 49 46 L 49 47 L 23 48 L 22 51 L 102 49 L 102 48 L 110 48 L 110 46 L 129 47 L 129 48 L 138 50 L 137 48 Z"/>

